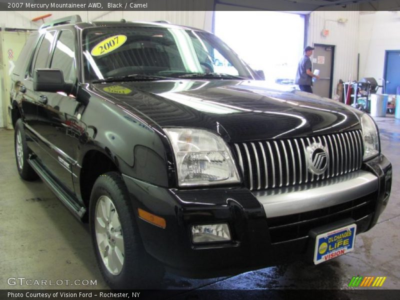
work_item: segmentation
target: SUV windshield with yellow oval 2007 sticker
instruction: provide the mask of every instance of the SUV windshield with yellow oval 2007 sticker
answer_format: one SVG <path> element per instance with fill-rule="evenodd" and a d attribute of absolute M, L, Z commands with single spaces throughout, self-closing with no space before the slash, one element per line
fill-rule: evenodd
<path fill-rule="evenodd" d="M 85 81 L 149 75 L 173 78 L 221 74 L 253 79 L 254 72 L 215 35 L 155 26 L 83 31 Z"/>

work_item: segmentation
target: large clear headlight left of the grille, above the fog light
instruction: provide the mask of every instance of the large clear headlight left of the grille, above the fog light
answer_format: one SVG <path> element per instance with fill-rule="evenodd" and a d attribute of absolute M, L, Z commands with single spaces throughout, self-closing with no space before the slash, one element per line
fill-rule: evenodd
<path fill-rule="evenodd" d="M 240 181 L 232 153 L 220 136 L 202 129 L 163 129 L 172 144 L 179 186 Z"/>

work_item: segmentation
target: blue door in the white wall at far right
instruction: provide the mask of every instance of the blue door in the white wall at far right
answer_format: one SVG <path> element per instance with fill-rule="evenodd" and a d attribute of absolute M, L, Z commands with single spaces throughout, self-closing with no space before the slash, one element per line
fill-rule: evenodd
<path fill-rule="evenodd" d="M 384 93 L 395 94 L 400 86 L 400 50 L 386 50 L 383 73 L 386 79 Z"/>

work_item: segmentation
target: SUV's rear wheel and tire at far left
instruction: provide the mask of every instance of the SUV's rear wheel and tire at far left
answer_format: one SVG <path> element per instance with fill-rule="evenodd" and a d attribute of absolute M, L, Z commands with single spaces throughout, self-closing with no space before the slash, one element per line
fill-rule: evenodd
<path fill-rule="evenodd" d="M 24 180 L 34 180 L 38 176 L 33 168 L 28 163 L 29 148 L 26 145 L 26 136 L 23 128 L 23 122 L 19 118 L 14 125 L 14 152 L 16 168 L 18 170 L 19 176 Z"/>

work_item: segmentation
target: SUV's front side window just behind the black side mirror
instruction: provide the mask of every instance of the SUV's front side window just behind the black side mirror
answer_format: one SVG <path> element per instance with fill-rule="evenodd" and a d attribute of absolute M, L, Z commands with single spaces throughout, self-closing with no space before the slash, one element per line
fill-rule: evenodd
<path fill-rule="evenodd" d="M 55 45 L 50 67 L 62 70 L 65 82 L 73 83 L 75 81 L 75 48 L 72 31 L 61 31 Z"/>

